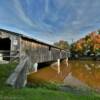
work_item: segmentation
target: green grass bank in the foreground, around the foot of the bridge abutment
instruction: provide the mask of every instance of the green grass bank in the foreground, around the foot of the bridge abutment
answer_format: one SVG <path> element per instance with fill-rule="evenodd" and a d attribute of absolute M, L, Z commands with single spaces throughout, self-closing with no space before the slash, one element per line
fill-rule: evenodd
<path fill-rule="evenodd" d="M 25 87 L 15 89 L 5 84 L 6 79 L 14 70 L 16 64 L 0 65 L 0 100 L 100 100 L 100 95 L 76 95 L 61 92 L 52 85 Z M 49 88 L 50 87 L 50 88 Z"/>

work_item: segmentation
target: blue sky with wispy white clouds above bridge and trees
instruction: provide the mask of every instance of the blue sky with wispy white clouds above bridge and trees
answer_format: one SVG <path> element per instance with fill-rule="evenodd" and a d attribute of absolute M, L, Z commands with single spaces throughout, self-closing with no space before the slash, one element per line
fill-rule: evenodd
<path fill-rule="evenodd" d="M 0 28 L 71 43 L 100 29 L 100 0 L 0 0 Z"/>

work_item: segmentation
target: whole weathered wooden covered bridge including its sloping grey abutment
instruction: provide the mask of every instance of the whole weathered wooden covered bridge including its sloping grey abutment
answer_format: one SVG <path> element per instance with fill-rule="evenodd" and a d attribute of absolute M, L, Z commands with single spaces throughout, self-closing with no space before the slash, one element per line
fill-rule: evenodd
<path fill-rule="evenodd" d="M 60 59 L 67 58 L 65 50 L 20 33 L 0 29 L 0 60 L 19 61 L 15 71 L 7 80 L 12 86 L 24 86 L 27 73 L 36 72 L 38 63 L 58 61 L 59 65 Z"/>

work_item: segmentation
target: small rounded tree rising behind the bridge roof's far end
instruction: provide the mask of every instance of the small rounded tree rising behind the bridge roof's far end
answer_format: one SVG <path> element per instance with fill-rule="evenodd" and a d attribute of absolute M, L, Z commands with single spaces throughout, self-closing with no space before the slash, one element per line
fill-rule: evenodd
<path fill-rule="evenodd" d="M 68 49 L 69 48 L 68 42 L 64 41 L 64 40 L 60 40 L 59 42 L 55 42 L 54 46 L 61 48 L 61 49 Z"/>

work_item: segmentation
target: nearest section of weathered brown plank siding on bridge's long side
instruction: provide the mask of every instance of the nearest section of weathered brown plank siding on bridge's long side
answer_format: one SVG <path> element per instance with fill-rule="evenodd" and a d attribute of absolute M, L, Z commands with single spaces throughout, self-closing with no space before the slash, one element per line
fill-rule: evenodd
<path fill-rule="evenodd" d="M 32 62 L 49 61 L 49 47 L 32 41 L 22 39 L 22 52 L 31 57 Z"/>

